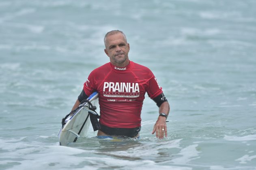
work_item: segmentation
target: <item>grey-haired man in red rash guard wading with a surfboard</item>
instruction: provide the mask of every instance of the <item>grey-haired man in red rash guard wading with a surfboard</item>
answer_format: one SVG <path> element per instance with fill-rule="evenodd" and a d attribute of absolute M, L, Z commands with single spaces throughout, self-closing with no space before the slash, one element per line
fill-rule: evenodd
<path fill-rule="evenodd" d="M 99 92 L 100 130 L 97 136 L 138 137 L 144 95 L 159 107 L 159 117 L 153 127 L 157 138 L 167 137 L 166 119 L 170 106 L 154 74 L 145 66 L 129 60 L 129 43 L 119 30 L 108 32 L 104 38 L 105 53 L 110 62 L 93 70 L 72 110 L 94 91 Z"/>

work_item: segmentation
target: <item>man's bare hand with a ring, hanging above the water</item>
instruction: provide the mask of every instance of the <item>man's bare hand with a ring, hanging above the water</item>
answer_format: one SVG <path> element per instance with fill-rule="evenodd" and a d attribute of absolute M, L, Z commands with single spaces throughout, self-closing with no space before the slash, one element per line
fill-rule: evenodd
<path fill-rule="evenodd" d="M 154 125 L 152 134 L 154 133 L 155 136 L 159 139 L 162 139 L 164 134 L 167 137 L 166 117 L 158 117 L 157 122 Z"/>

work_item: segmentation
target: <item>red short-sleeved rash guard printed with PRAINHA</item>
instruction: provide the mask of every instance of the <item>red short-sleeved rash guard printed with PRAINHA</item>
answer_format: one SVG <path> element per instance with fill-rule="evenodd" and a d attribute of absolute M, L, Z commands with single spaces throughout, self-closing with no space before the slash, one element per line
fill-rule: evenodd
<path fill-rule="evenodd" d="M 131 61 L 122 68 L 109 62 L 93 70 L 84 92 L 94 91 L 99 92 L 100 123 L 120 128 L 139 127 L 145 93 L 153 99 L 163 92 L 151 70 Z"/>

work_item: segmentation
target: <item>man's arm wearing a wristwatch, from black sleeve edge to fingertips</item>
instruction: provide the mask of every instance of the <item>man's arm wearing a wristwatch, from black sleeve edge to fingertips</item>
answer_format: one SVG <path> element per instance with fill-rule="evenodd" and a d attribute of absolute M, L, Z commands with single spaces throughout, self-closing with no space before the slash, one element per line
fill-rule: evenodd
<path fill-rule="evenodd" d="M 166 119 L 170 112 L 170 105 L 168 103 L 168 100 L 163 95 L 163 93 L 154 98 L 153 100 L 157 103 L 157 106 L 159 107 L 159 116 L 154 125 L 152 134 L 156 133 L 156 137 L 162 139 L 164 134 L 167 137 Z"/>

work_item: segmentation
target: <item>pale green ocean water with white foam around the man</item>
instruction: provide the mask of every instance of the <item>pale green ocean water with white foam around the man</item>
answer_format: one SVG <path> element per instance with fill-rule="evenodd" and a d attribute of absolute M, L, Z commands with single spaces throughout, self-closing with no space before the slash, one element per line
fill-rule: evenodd
<path fill-rule="evenodd" d="M 256 170 L 255 0 L 0 0 L 0 169 Z M 59 146 L 61 119 L 123 30 L 171 106 L 168 137 L 88 136 Z"/>

